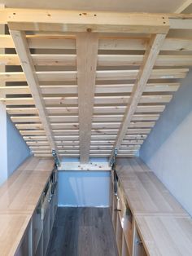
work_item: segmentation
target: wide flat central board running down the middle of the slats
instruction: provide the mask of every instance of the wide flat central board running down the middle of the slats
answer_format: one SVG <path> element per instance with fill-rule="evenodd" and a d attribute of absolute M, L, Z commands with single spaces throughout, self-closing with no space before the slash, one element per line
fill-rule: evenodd
<path fill-rule="evenodd" d="M 76 37 L 77 84 L 80 126 L 80 161 L 89 161 L 94 90 L 98 58 L 98 34 L 80 33 Z"/>

